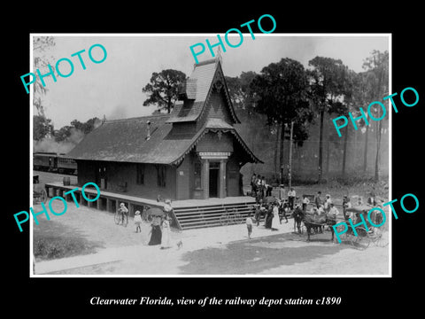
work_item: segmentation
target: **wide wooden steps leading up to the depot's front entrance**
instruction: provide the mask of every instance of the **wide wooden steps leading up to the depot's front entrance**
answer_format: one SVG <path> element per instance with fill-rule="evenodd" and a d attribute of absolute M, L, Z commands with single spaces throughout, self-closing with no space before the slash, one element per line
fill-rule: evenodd
<path fill-rule="evenodd" d="M 253 211 L 253 203 L 214 206 L 174 207 L 174 215 L 182 230 L 243 223 Z"/>

